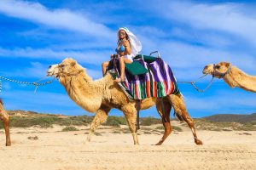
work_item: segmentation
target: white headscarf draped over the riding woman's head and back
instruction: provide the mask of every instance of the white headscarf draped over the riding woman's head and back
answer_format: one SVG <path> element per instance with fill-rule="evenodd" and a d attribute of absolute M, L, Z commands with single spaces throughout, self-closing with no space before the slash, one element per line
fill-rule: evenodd
<path fill-rule="evenodd" d="M 142 50 L 142 48 L 143 48 L 142 43 L 137 39 L 137 37 L 131 31 L 128 30 L 128 28 L 121 27 L 121 28 L 119 28 L 119 31 L 120 30 L 125 31 L 126 34 L 128 35 L 128 37 L 130 39 L 130 43 L 131 43 L 131 55 L 133 57 L 135 57 Z M 118 40 L 119 40 L 119 31 L 117 32 Z"/>

